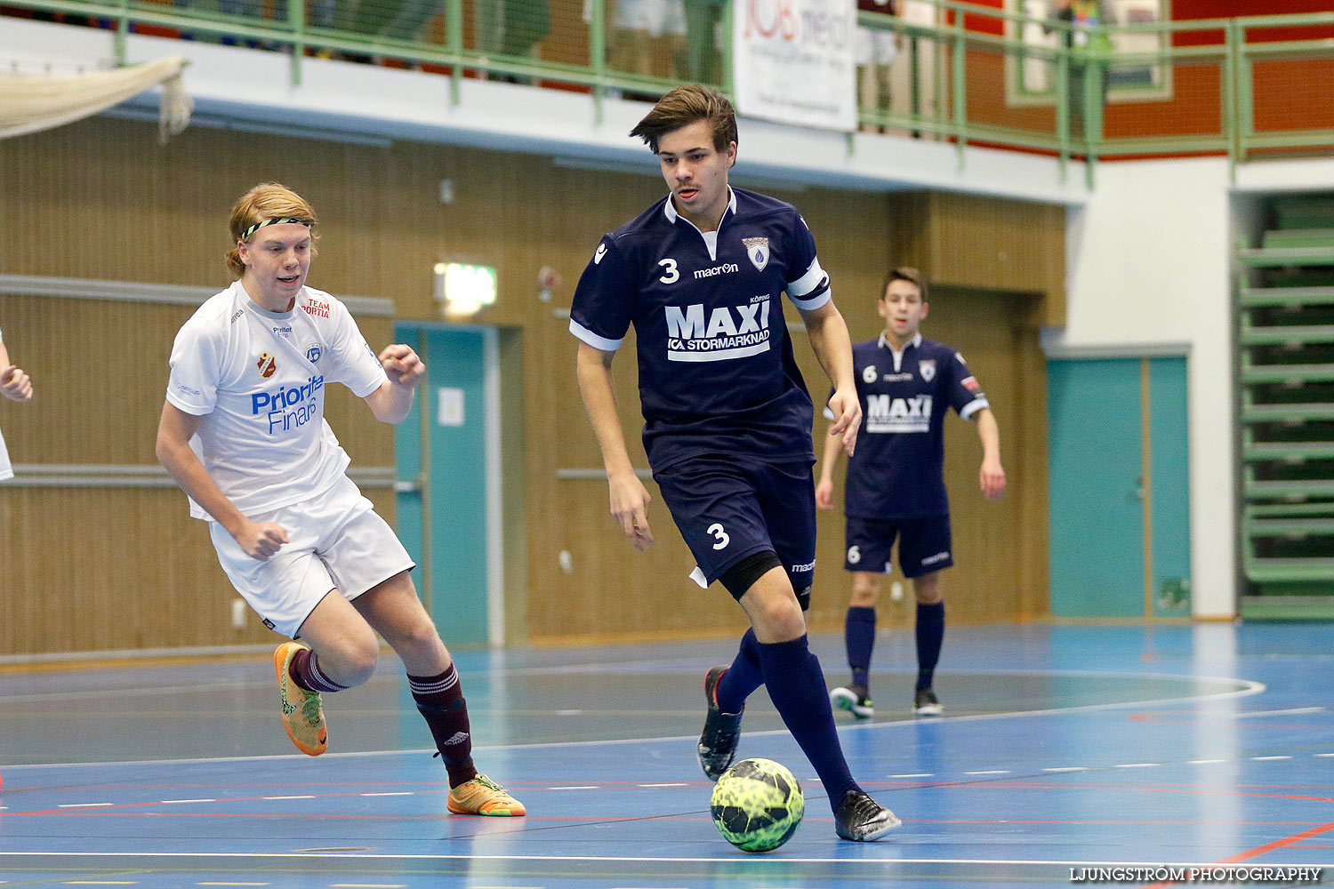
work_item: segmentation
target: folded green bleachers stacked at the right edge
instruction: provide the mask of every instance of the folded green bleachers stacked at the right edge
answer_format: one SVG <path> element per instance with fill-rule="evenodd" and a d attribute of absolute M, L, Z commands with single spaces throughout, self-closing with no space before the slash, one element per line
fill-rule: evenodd
<path fill-rule="evenodd" d="M 1237 252 L 1246 618 L 1334 618 L 1334 193 Z"/>

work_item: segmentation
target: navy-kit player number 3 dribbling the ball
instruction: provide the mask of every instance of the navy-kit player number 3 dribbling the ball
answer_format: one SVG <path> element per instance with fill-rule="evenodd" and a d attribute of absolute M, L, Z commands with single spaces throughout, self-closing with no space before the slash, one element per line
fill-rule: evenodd
<path fill-rule="evenodd" d="M 875 840 L 899 820 L 852 780 L 807 649 L 814 408 L 779 299 L 786 292 L 806 321 L 834 385 L 832 432 L 852 453 L 860 408 L 847 325 L 796 209 L 728 187 L 736 117 L 726 97 L 679 87 L 630 135 L 658 155 L 670 195 L 602 239 L 570 312 L 611 513 L 636 549 L 652 544 L 648 492 L 626 450 L 610 375 L 634 324 L 644 449 L 695 556 L 691 577 L 722 581 L 751 621 L 732 664 L 706 674 L 700 766 L 710 778 L 727 769 L 746 698 L 766 685 L 828 793 L 838 836 Z"/>

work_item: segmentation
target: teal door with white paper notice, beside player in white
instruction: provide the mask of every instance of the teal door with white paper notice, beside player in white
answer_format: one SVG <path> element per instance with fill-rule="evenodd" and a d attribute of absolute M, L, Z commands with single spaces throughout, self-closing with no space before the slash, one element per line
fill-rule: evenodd
<path fill-rule="evenodd" d="M 499 478 L 494 332 L 396 324 L 426 361 L 412 413 L 395 435 L 398 532 L 414 580 L 450 646 L 500 644 Z M 492 369 L 492 373 L 488 373 Z"/>

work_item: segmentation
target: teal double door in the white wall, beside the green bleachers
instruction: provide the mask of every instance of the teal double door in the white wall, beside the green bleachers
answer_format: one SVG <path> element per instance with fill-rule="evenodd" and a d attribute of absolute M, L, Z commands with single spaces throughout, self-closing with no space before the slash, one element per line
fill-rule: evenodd
<path fill-rule="evenodd" d="M 1186 360 L 1047 363 L 1051 613 L 1190 612 Z"/>

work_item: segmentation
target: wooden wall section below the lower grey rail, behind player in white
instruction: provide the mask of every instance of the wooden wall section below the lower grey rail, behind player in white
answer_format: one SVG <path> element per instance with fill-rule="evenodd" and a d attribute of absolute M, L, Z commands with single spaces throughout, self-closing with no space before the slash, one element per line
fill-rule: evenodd
<path fill-rule="evenodd" d="M 387 489 L 367 489 L 382 510 Z M 390 502 L 386 502 L 386 501 Z M 175 488 L 0 488 L 0 654 L 241 645 L 276 637 Z"/>

